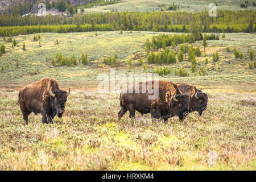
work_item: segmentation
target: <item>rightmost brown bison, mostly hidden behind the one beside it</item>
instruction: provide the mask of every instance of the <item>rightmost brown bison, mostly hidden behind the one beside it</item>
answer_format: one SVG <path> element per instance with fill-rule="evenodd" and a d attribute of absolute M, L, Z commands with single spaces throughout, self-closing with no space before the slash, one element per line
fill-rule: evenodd
<path fill-rule="evenodd" d="M 208 94 L 203 93 L 193 85 L 185 83 L 177 83 L 177 87 L 182 93 L 190 96 L 189 113 L 197 111 L 199 115 L 202 115 L 203 111 L 207 109 Z"/>

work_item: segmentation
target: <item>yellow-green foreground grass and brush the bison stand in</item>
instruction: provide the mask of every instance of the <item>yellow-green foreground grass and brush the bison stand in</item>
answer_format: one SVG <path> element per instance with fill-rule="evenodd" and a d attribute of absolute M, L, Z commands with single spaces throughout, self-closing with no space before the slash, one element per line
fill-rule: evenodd
<path fill-rule="evenodd" d="M 255 94 L 208 94 L 208 109 L 187 124 L 139 113 L 117 122 L 118 93 L 77 90 L 63 118 L 46 125 L 31 114 L 24 125 L 18 92 L 0 90 L 0 169 L 255 170 Z"/>

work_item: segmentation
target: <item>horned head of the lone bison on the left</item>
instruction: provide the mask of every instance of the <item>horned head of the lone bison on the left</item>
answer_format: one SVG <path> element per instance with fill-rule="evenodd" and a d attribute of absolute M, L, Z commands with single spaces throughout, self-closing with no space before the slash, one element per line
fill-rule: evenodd
<path fill-rule="evenodd" d="M 49 94 L 54 99 L 54 107 L 57 111 L 57 116 L 59 118 L 62 117 L 62 115 L 65 112 L 65 104 L 67 102 L 67 97 L 70 94 L 70 88 L 68 88 L 68 92 L 64 90 L 53 90 L 52 88 L 49 90 Z"/>

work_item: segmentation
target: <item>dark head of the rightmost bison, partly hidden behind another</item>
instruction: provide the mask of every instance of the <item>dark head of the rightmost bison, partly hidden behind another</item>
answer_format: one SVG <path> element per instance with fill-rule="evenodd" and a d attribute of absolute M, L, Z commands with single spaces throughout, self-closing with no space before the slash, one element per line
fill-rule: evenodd
<path fill-rule="evenodd" d="M 202 115 L 203 111 L 207 109 L 208 94 L 197 90 L 192 96 L 191 109 L 192 111 L 198 111 L 199 115 Z"/>

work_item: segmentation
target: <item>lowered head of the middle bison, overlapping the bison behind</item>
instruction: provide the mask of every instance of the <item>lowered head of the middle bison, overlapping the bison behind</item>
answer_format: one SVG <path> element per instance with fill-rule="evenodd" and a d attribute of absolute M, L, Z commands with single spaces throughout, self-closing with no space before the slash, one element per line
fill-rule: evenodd
<path fill-rule="evenodd" d="M 176 115 L 179 117 L 180 121 L 185 119 L 188 115 L 189 110 L 189 95 L 188 94 L 175 94 L 172 98 L 172 106 L 174 107 Z"/>

